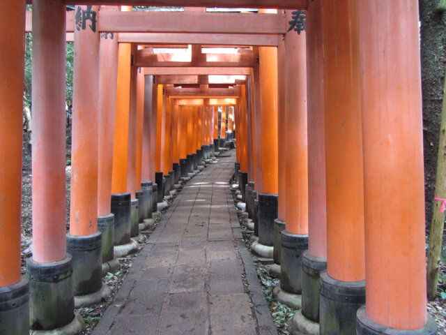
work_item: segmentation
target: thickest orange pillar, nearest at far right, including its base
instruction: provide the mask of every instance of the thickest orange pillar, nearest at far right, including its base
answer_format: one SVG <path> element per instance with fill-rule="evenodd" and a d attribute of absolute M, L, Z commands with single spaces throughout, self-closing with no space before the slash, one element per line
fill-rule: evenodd
<path fill-rule="evenodd" d="M 426 313 L 418 3 L 360 0 L 357 8 L 367 278 L 357 334 L 436 334 Z"/>

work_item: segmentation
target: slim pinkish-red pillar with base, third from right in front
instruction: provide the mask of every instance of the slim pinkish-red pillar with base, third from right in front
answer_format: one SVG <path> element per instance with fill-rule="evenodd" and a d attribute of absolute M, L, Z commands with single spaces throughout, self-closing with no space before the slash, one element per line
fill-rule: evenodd
<path fill-rule="evenodd" d="M 319 276 L 327 267 L 325 117 L 321 1 L 307 8 L 308 251 L 303 256 L 302 314 L 319 319 Z"/>

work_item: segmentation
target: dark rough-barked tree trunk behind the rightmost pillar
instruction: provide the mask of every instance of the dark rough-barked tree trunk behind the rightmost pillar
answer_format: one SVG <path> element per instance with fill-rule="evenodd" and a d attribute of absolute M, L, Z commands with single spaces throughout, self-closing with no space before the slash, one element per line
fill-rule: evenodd
<path fill-rule="evenodd" d="M 445 0 L 419 0 L 421 24 L 421 61 L 424 126 L 424 181 L 426 225 L 432 217 L 436 178 L 438 133 L 446 63 Z M 442 9 L 443 8 L 443 9 Z"/>

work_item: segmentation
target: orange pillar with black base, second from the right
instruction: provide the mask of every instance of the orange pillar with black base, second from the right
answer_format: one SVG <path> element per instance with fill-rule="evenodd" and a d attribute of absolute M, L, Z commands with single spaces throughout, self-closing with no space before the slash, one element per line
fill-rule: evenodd
<path fill-rule="evenodd" d="M 357 1 L 322 6 L 328 271 L 321 274 L 320 325 L 321 334 L 353 334 L 365 300 Z"/>

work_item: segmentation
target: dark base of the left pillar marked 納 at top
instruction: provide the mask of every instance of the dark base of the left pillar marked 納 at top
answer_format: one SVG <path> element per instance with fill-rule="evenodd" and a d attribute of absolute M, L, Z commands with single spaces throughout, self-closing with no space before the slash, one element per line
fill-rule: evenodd
<path fill-rule="evenodd" d="M 74 295 L 91 295 L 102 287 L 102 236 L 67 234 L 67 253 L 72 256 Z"/>

